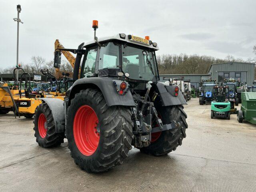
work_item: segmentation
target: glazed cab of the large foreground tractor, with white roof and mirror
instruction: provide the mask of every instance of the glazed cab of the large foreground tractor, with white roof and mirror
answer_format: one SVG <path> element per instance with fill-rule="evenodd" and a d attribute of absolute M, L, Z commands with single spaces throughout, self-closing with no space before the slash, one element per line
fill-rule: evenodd
<path fill-rule="evenodd" d="M 80 70 L 74 69 L 73 81 L 92 77 L 122 79 L 129 82 L 130 89 L 145 92 L 147 82 L 159 80 L 155 54 L 158 49 L 148 36 L 140 38 L 123 33 L 106 38 L 94 36 L 94 41 L 80 45 L 82 55 L 76 59 L 76 63 L 80 60 L 77 64 Z M 61 52 L 56 50 L 56 68 L 60 66 L 60 56 Z M 117 90 L 121 95 L 126 92 L 126 89 Z"/>

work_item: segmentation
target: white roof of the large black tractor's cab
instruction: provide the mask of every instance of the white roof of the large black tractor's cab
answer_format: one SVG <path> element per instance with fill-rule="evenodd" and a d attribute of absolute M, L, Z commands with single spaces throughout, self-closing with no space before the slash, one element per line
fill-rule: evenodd
<path fill-rule="evenodd" d="M 158 46 L 154 47 L 152 44 L 151 45 L 148 45 L 148 44 L 144 44 L 142 42 L 136 42 L 136 41 L 133 41 L 133 40 L 129 40 L 128 38 L 128 35 L 126 34 L 125 38 L 120 38 L 120 34 L 117 34 L 117 35 L 114 35 L 114 36 L 107 36 L 107 37 L 102 37 L 102 38 L 98 38 L 98 42 L 105 42 L 105 41 L 109 41 L 109 40 L 120 40 L 120 41 L 124 41 L 124 42 L 128 42 L 128 43 L 131 43 L 131 44 L 136 44 L 136 45 L 140 45 L 140 46 L 144 46 L 144 47 L 148 47 L 148 48 L 152 48 L 153 50 L 157 51 L 159 50 Z M 154 42 L 154 41 L 153 41 Z M 91 46 L 93 44 L 96 44 L 96 42 L 93 41 L 90 41 L 90 42 L 87 42 L 84 44 L 84 47 L 88 47 L 88 46 Z"/>

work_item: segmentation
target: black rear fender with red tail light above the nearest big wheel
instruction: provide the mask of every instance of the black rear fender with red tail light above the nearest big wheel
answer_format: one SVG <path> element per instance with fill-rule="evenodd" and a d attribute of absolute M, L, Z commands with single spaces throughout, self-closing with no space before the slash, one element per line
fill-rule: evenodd
<path fill-rule="evenodd" d="M 116 82 L 116 87 L 114 82 Z M 136 106 L 132 93 L 130 90 L 127 90 L 129 86 L 128 82 L 126 82 L 127 88 L 124 90 L 124 92 L 127 92 L 124 95 L 118 94 L 117 88 L 120 89 L 121 82 L 124 81 L 113 80 L 108 77 L 90 77 L 78 79 L 71 87 L 68 105 L 70 105 L 71 99 L 74 98 L 74 95 L 80 92 L 80 90 L 87 88 L 98 88 L 102 92 L 108 106 Z"/>

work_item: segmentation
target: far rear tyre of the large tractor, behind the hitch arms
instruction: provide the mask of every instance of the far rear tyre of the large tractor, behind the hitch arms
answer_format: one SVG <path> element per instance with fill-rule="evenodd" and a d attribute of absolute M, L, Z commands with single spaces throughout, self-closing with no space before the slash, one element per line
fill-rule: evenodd
<path fill-rule="evenodd" d="M 156 110 L 160 113 L 163 124 L 170 124 L 171 120 L 175 120 L 181 125 L 180 129 L 160 132 L 158 138 L 154 139 L 148 147 L 140 149 L 143 153 L 160 156 L 175 151 L 179 145 L 182 145 L 182 140 L 186 137 L 186 128 L 188 128 L 188 124 L 186 123 L 187 115 L 184 112 L 182 105 L 165 107 L 156 106 Z"/>

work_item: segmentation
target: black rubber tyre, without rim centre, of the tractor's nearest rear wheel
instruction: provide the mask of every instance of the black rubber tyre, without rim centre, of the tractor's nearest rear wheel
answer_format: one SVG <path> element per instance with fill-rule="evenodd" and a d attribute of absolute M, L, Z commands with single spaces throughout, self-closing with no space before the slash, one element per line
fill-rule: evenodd
<path fill-rule="evenodd" d="M 82 106 L 90 106 L 98 118 L 97 132 L 99 132 L 98 146 L 90 155 L 78 148 L 75 140 L 77 134 L 76 113 Z M 88 114 L 86 114 L 88 115 Z M 83 118 L 86 118 L 86 115 Z M 71 100 L 67 110 L 66 138 L 68 148 L 74 162 L 86 172 L 104 172 L 122 164 L 132 149 L 133 122 L 131 111 L 123 106 L 108 106 L 99 90 L 88 88 L 81 90 Z"/>

